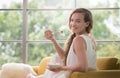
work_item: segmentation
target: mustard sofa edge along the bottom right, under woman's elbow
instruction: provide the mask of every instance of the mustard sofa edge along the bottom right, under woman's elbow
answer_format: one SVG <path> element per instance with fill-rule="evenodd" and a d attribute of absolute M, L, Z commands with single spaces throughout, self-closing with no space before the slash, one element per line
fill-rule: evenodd
<path fill-rule="evenodd" d="M 85 73 L 73 72 L 70 78 L 120 78 L 120 70 L 98 70 Z"/>

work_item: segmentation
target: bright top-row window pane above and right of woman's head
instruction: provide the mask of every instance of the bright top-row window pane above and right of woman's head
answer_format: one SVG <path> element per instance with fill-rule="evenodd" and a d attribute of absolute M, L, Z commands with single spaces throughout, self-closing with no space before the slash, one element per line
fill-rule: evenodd
<path fill-rule="evenodd" d="M 120 0 L 77 0 L 76 4 L 85 8 L 119 8 Z"/>

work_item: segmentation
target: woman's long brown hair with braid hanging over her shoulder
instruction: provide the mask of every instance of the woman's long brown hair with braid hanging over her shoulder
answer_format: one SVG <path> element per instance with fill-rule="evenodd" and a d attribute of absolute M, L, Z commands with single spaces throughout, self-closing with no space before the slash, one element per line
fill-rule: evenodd
<path fill-rule="evenodd" d="M 86 32 L 90 33 L 90 31 L 91 31 L 91 29 L 93 27 L 93 19 L 92 19 L 91 12 L 89 10 L 87 10 L 87 9 L 84 9 L 84 8 L 77 8 L 77 9 L 75 9 L 71 13 L 71 15 L 69 17 L 69 26 L 70 26 L 71 17 L 72 17 L 72 15 L 74 13 L 82 13 L 84 15 L 84 21 L 85 22 L 89 22 L 89 26 L 86 27 Z M 67 55 L 68 55 L 68 52 L 69 52 L 69 49 L 70 49 L 70 45 L 71 45 L 74 37 L 75 37 L 75 33 L 73 33 L 72 35 L 70 35 L 70 37 L 67 39 L 67 42 L 65 44 L 65 55 L 66 55 L 66 58 L 67 58 Z M 64 63 L 66 63 L 66 58 L 65 58 Z"/>

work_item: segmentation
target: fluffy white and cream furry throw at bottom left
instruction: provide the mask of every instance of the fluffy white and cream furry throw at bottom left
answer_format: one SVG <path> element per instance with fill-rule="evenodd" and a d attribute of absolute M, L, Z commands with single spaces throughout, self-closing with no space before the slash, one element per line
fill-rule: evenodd
<path fill-rule="evenodd" d="M 23 63 L 6 63 L 2 65 L 0 78 L 26 78 L 27 74 L 37 75 L 33 68 Z"/>

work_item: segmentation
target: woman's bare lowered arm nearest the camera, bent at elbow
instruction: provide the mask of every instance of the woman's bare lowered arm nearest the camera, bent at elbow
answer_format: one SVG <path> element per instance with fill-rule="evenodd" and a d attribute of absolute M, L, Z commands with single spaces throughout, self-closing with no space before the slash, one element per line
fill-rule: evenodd
<path fill-rule="evenodd" d="M 63 70 L 86 72 L 88 70 L 87 57 L 86 57 L 86 43 L 80 36 L 75 37 L 73 40 L 74 52 L 78 59 L 78 64 L 74 66 L 63 66 Z"/>

